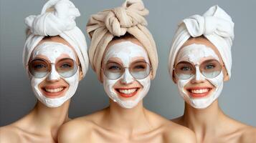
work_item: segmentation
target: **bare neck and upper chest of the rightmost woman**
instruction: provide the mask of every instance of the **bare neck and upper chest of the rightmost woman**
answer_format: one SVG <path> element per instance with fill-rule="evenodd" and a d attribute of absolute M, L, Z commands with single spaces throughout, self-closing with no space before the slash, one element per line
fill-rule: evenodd
<path fill-rule="evenodd" d="M 216 100 L 206 109 L 195 109 L 189 104 L 185 104 L 183 122 L 184 126 L 196 133 L 196 136 L 207 136 L 208 133 L 212 135 L 216 133 L 223 117 L 224 113 Z"/>

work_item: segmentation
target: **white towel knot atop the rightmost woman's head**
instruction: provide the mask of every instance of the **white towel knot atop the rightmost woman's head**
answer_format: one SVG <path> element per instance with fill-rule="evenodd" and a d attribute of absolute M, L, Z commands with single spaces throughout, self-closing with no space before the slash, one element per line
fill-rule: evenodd
<path fill-rule="evenodd" d="M 217 34 L 223 38 L 234 39 L 234 23 L 231 17 L 219 6 L 213 6 L 203 16 L 190 16 L 183 22 L 193 37 Z"/>

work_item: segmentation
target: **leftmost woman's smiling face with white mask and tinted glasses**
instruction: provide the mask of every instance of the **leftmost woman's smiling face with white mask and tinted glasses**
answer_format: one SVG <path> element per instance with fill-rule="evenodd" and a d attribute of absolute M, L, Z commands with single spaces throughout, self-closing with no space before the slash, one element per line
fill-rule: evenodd
<path fill-rule="evenodd" d="M 55 38 L 55 39 L 58 39 Z M 77 54 L 64 39 L 62 42 L 42 40 L 29 61 L 29 74 L 32 74 L 34 94 L 48 107 L 59 107 L 70 99 L 82 78 L 77 71 Z M 62 39 L 62 40 L 61 40 Z M 75 66 L 74 66 L 75 65 Z M 79 78 L 80 73 L 80 78 Z"/>

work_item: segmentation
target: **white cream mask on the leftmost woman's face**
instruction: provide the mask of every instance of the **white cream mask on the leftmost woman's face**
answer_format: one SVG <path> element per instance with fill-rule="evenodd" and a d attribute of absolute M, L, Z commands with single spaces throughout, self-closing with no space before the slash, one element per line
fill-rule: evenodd
<path fill-rule="evenodd" d="M 51 63 L 55 63 L 56 59 L 60 57 L 62 54 L 67 54 L 68 56 L 70 56 L 70 59 L 77 61 L 74 51 L 72 51 L 72 49 L 69 46 L 50 41 L 46 41 L 43 44 L 37 46 L 34 49 L 32 59 L 34 59 L 37 55 L 43 55 L 46 56 Z M 65 82 L 67 82 L 67 84 L 69 84 L 67 91 L 64 95 L 62 95 L 62 97 L 45 97 L 45 95 L 39 89 L 39 84 L 43 82 L 45 79 L 57 80 L 60 78 L 62 77 L 60 77 L 60 74 L 58 74 L 55 70 L 54 64 L 52 64 L 52 70 L 49 72 L 49 74 L 47 74 L 47 76 L 43 77 L 42 79 L 36 79 L 31 75 L 33 92 L 36 95 L 37 99 L 39 99 L 39 101 L 47 107 L 60 107 L 64 102 L 66 102 L 75 94 L 79 82 L 79 67 L 77 69 L 77 72 L 72 77 L 62 78 L 65 80 Z"/>

